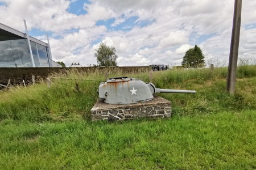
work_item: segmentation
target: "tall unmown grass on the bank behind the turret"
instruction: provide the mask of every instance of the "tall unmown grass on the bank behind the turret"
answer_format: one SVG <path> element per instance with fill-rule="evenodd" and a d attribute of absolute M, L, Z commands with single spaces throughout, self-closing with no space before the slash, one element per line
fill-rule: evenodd
<path fill-rule="evenodd" d="M 123 76 L 120 70 L 94 71 L 67 70 L 52 74 L 53 82 L 48 88 L 46 82 L 27 88 L 18 86 L 0 92 L 0 119 L 29 121 L 61 121 L 63 119 L 88 118 L 90 108 L 97 100 L 97 88 L 109 77 Z M 158 88 L 197 90 L 196 95 L 159 94 L 174 104 L 177 114 L 187 112 L 217 112 L 222 109 L 255 108 L 256 66 L 240 66 L 237 71 L 237 92 L 229 96 L 225 92 L 226 68 L 168 70 L 153 73 L 153 83 Z M 129 76 L 149 82 L 148 71 L 131 73 Z M 61 79 L 67 78 L 67 79 Z M 245 79 L 250 78 L 250 79 Z"/>

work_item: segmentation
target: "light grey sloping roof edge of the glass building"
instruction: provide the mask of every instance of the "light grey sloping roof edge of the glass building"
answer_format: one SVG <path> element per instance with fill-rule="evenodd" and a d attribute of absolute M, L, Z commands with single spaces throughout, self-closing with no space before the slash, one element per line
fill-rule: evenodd
<path fill-rule="evenodd" d="M 20 32 L 14 28 L 11 28 L 5 24 L 0 23 L 0 35 L 3 36 L 12 36 L 12 37 L 22 37 L 24 39 L 26 39 L 26 33 Z M 44 46 L 48 46 L 48 44 L 46 42 L 40 41 L 38 39 L 35 39 L 34 37 L 30 36 L 30 40 L 34 41 L 38 44 L 44 45 Z"/>

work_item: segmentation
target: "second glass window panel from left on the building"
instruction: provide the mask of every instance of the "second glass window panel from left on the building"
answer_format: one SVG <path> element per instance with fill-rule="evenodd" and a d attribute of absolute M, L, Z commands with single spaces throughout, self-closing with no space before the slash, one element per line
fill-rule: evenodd
<path fill-rule="evenodd" d="M 32 67 L 30 61 L 30 54 L 28 53 L 27 40 L 26 39 L 12 39 L 11 48 L 13 49 L 13 57 L 17 67 Z"/>

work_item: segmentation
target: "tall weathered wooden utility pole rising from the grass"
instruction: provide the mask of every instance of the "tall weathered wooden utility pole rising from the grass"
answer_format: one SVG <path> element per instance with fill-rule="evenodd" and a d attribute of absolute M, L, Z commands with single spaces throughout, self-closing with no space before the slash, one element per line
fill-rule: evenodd
<path fill-rule="evenodd" d="M 228 77 L 226 81 L 226 90 L 229 92 L 230 95 L 233 95 L 236 89 L 237 58 L 238 58 L 238 48 L 239 48 L 239 38 L 240 38 L 241 11 L 242 11 L 242 0 L 235 0 L 232 38 L 231 38 L 230 53 L 229 53 Z"/>

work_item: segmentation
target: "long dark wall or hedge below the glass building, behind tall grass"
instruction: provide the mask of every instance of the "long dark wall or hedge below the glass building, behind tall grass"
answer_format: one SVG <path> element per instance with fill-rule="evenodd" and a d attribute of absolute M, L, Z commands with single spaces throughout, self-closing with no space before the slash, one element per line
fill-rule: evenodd
<path fill-rule="evenodd" d="M 97 71 L 104 70 L 106 67 L 0 67 L 0 84 L 7 84 L 11 79 L 12 84 L 18 84 L 23 80 L 25 82 L 32 82 L 32 75 L 35 78 L 46 78 L 51 73 L 61 73 L 66 70 L 77 69 L 79 71 Z M 108 67 L 110 70 L 118 70 L 121 73 L 139 73 L 143 71 L 150 71 L 149 66 L 138 66 L 138 67 Z M 104 74 L 104 73 L 102 73 Z"/>

